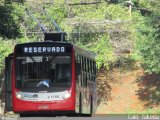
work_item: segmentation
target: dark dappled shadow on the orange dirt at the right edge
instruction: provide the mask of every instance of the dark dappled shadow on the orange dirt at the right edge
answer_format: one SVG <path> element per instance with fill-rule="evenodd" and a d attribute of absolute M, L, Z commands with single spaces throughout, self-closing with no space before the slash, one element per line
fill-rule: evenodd
<path fill-rule="evenodd" d="M 160 105 L 160 75 L 146 74 L 137 80 L 139 90 L 137 95 L 145 108 Z"/>

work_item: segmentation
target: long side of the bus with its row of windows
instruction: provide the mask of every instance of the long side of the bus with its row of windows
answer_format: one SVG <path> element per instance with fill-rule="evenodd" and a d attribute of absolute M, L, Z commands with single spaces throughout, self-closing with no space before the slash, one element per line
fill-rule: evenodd
<path fill-rule="evenodd" d="M 75 66 L 76 70 L 81 68 L 80 74 L 76 73 L 76 112 L 79 113 L 81 107 L 82 114 L 94 114 L 97 109 L 96 62 L 90 54 L 81 53 L 80 50 L 75 53 L 76 65 L 81 64 Z"/>

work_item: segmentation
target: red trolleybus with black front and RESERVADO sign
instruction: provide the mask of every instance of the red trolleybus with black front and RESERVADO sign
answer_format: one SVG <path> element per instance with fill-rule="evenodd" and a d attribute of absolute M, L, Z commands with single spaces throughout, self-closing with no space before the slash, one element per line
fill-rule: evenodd
<path fill-rule="evenodd" d="M 92 115 L 95 54 L 61 41 L 17 44 L 5 59 L 6 111 Z"/>

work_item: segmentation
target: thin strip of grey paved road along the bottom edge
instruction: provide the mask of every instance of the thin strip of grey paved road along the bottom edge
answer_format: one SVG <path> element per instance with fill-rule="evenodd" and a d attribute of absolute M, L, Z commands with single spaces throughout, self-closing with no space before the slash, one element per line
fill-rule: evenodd
<path fill-rule="evenodd" d="M 147 115 L 94 115 L 93 117 L 2 117 L 0 120 L 153 120 L 153 116 Z M 160 115 L 154 116 L 160 120 Z"/>

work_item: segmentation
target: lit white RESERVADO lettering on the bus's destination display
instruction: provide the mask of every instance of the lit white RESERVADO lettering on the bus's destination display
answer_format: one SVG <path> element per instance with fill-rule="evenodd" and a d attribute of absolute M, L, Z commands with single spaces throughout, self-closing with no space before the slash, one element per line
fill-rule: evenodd
<path fill-rule="evenodd" d="M 24 47 L 24 53 L 65 53 L 65 47 Z"/>

